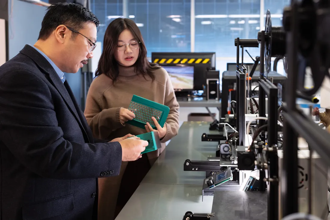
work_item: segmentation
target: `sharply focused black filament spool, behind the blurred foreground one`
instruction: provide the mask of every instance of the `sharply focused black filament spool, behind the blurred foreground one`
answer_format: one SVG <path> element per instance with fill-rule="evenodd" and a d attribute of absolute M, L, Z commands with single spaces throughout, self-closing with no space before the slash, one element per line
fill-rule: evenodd
<path fill-rule="evenodd" d="M 272 27 L 270 11 L 267 10 L 265 22 L 265 66 L 267 73 L 270 72 L 271 58 L 283 58 L 286 48 L 286 33 L 282 26 Z"/>

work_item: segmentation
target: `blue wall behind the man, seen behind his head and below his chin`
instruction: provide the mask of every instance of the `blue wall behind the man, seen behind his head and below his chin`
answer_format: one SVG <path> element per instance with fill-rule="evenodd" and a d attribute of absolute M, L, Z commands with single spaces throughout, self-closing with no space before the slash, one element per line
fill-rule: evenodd
<path fill-rule="evenodd" d="M 47 7 L 19 0 L 8 1 L 9 59 L 18 54 L 25 44 L 33 45 L 37 41 L 46 9 Z M 65 77 L 81 105 L 81 71 L 65 74 Z"/>

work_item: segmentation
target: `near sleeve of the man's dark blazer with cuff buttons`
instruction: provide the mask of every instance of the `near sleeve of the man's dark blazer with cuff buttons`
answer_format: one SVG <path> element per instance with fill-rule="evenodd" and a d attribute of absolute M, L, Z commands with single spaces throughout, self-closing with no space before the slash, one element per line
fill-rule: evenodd
<path fill-rule="evenodd" d="M 0 140 L 31 172 L 54 179 L 96 178 L 112 170 L 119 174 L 119 142 L 81 144 L 63 138 L 57 119 L 65 115 L 57 114 L 41 78 L 25 70 L 7 72 L 0 94 Z"/>

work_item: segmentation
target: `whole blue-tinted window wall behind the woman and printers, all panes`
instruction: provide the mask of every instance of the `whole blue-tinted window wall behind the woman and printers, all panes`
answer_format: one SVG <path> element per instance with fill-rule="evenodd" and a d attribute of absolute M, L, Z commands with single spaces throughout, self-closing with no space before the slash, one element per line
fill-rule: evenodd
<path fill-rule="evenodd" d="M 109 23 L 123 16 L 123 1 L 127 16 L 141 30 L 148 57 L 152 52 L 190 52 L 190 0 L 91 0 L 91 10 L 102 23 L 98 41 L 103 42 Z M 289 2 L 264 0 L 264 13 L 270 9 L 273 26 L 282 25 L 283 8 Z M 260 0 L 195 0 L 194 52 L 215 52 L 220 73 L 228 62 L 236 62 L 235 38 L 256 39 L 258 31 Z M 260 47 L 246 50 L 253 58 L 260 55 Z M 244 61 L 253 62 L 246 52 Z"/>

